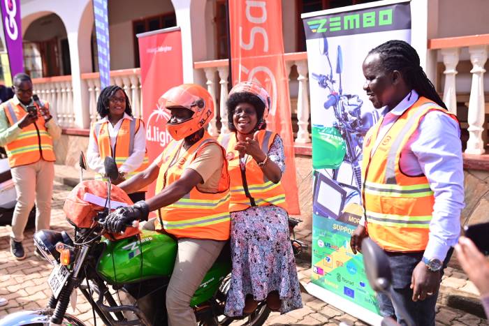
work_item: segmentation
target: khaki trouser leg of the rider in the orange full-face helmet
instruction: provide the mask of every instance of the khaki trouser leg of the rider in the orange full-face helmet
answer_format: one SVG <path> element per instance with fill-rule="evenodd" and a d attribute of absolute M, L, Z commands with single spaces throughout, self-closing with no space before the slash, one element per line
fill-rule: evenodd
<path fill-rule="evenodd" d="M 210 239 L 178 239 L 175 267 L 166 290 L 168 325 L 197 325 L 190 300 L 224 244 L 225 241 Z"/>

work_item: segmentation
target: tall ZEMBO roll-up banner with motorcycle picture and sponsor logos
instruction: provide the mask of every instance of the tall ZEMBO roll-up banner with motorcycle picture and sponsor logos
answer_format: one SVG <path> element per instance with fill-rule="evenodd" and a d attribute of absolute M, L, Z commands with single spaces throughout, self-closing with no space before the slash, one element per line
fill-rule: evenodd
<path fill-rule="evenodd" d="M 411 41 L 409 1 L 376 1 L 302 15 L 312 121 L 312 276 L 307 291 L 380 325 L 375 292 L 350 235 L 363 214 L 363 137 L 379 120 L 363 84 L 367 53 L 387 40 Z"/>

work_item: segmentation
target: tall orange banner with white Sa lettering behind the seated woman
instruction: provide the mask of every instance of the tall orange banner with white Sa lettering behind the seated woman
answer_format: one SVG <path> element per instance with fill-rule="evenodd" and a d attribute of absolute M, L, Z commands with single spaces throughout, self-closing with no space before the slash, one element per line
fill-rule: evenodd
<path fill-rule="evenodd" d="M 295 162 L 289 76 L 284 62 L 282 0 L 229 0 L 231 71 L 233 85 L 241 81 L 261 84 L 272 105 L 267 129 L 284 140 L 286 170 L 282 177 L 289 214 L 300 214 Z"/>

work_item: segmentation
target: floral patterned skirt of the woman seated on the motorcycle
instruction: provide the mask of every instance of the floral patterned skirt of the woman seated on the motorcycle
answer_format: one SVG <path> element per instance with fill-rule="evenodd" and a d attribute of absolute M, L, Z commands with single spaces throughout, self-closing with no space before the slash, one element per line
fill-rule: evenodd
<path fill-rule="evenodd" d="M 302 308 L 299 279 L 289 238 L 289 220 L 277 206 L 249 207 L 231 213 L 231 288 L 226 315 L 241 316 L 245 297 L 257 301 L 277 291 L 281 313 Z"/>

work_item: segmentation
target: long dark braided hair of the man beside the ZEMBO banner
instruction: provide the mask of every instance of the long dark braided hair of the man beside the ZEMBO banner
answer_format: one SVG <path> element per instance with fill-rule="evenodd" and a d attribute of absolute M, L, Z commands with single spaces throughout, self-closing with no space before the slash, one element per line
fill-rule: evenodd
<path fill-rule="evenodd" d="M 375 53 L 379 54 L 382 66 L 386 71 L 400 71 L 408 87 L 414 89 L 420 96 L 435 101 L 441 108 L 448 110 L 435 86 L 421 68 L 418 53 L 409 43 L 403 40 L 388 40 L 374 47 L 368 54 Z"/>

